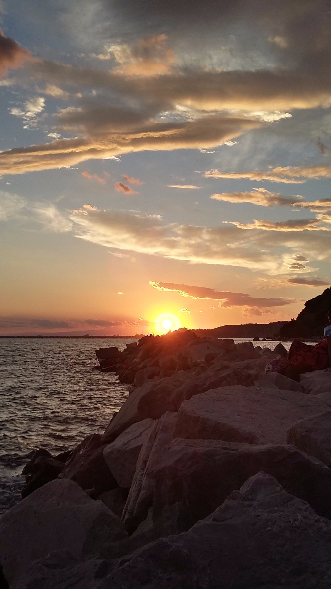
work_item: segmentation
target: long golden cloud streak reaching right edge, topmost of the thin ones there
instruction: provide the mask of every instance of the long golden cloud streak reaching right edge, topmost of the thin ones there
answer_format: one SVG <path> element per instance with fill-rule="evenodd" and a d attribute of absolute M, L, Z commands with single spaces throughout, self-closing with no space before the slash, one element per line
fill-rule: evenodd
<path fill-rule="evenodd" d="M 257 170 L 249 172 L 220 172 L 219 170 L 207 170 L 204 173 L 204 177 L 233 178 L 236 180 L 248 178 L 249 180 L 269 180 L 270 182 L 283 182 L 285 184 L 302 184 L 307 180 L 331 178 L 331 166 L 324 164 L 319 166 L 306 166 L 303 168 L 279 166 L 267 172 L 260 172 Z"/>

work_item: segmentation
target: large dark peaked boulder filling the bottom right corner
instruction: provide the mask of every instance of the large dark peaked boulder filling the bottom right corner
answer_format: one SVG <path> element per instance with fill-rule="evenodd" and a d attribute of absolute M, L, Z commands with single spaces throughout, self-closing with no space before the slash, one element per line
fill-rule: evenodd
<path fill-rule="evenodd" d="M 191 530 L 148 544 L 98 589 L 329 589 L 331 522 L 260 473 Z"/>

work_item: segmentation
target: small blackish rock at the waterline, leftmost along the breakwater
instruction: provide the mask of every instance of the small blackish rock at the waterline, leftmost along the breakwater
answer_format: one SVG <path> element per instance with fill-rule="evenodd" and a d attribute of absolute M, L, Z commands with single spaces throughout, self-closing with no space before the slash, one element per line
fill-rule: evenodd
<path fill-rule="evenodd" d="M 39 489 L 50 481 L 58 478 L 64 469 L 64 463 L 52 458 L 52 456 L 37 456 L 32 458 L 24 467 L 22 474 L 26 474 L 25 485 L 22 488 L 22 498 Z"/>

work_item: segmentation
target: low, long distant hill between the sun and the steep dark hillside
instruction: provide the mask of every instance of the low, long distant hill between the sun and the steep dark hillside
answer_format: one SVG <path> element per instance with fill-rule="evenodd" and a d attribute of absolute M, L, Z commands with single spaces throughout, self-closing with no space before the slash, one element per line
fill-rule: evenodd
<path fill-rule="evenodd" d="M 198 337 L 266 337 L 277 339 L 280 329 L 285 325 L 284 321 L 274 323 L 246 323 L 244 325 L 223 325 L 214 329 L 194 329 Z"/>

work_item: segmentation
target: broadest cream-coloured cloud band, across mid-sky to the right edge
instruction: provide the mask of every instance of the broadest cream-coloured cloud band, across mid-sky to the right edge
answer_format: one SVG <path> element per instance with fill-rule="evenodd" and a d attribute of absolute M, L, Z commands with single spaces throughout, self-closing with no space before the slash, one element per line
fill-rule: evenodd
<path fill-rule="evenodd" d="M 75 236 L 120 250 L 192 263 L 221 264 L 280 274 L 289 254 L 309 251 L 311 259 L 331 258 L 330 231 L 306 229 L 272 231 L 240 229 L 232 223 L 219 227 L 164 223 L 159 215 L 140 211 L 80 209 L 71 216 Z M 282 228 L 282 227 L 281 227 Z"/>

